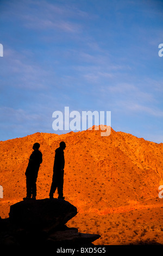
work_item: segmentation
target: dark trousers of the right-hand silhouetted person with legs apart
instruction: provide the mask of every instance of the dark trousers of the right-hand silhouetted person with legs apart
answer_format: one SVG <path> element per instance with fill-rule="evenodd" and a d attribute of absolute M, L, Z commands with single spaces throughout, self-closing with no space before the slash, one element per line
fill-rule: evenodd
<path fill-rule="evenodd" d="M 58 190 L 59 197 L 63 196 L 64 187 L 64 170 L 55 171 L 53 173 L 52 185 L 49 196 L 53 196 L 55 190 Z"/>

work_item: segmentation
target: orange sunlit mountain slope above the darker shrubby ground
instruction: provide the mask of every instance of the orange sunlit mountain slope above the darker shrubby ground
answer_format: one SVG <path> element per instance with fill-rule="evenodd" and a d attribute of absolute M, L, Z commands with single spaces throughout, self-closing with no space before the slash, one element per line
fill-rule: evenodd
<path fill-rule="evenodd" d="M 79 214 L 102 216 L 163 204 L 163 198 L 158 197 L 158 188 L 163 185 L 162 143 L 112 129 L 106 137 L 94 129 L 65 135 L 35 133 L 0 142 L 0 185 L 4 190 L 1 217 L 8 217 L 9 206 L 26 196 L 24 173 L 35 142 L 40 143 L 43 155 L 37 199 L 48 197 L 55 149 L 61 141 L 67 146 L 64 196 L 77 206 Z"/>

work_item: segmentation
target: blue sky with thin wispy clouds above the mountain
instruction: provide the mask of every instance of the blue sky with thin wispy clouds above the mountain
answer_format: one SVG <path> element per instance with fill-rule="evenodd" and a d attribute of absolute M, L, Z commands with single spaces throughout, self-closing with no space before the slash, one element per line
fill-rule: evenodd
<path fill-rule="evenodd" d="M 163 142 L 162 14 L 157 0 L 1 0 L 0 140 L 65 133 L 52 114 L 68 106 Z"/>

